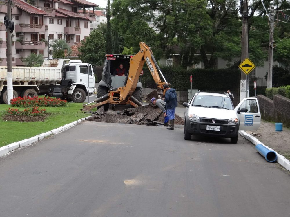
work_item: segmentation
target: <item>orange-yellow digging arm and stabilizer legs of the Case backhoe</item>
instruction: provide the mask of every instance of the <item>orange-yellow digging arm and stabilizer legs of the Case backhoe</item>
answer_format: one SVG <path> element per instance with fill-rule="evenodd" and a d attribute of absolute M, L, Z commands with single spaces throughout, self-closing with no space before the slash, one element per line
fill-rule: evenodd
<path fill-rule="evenodd" d="M 125 86 L 119 87 L 115 91 L 109 91 L 109 93 L 103 97 L 97 98 L 93 102 L 97 104 L 90 105 L 93 102 L 83 105 L 82 111 L 91 111 L 92 108 L 99 107 L 103 104 L 131 104 L 134 107 L 141 106 L 142 103 L 133 97 L 133 92 L 136 89 L 140 73 L 146 62 L 148 69 L 157 85 L 158 98 L 162 98 L 164 95 L 164 84 L 168 84 L 157 65 L 157 62 L 153 56 L 151 48 L 144 42 L 140 42 L 140 51 L 130 58 L 130 68 L 125 80 Z M 164 82 L 161 81 L 159 73 L 162 75 Z M 149 94 L 150 95 L 150 94 Z M 155 94 L 156 95 L 156 94 Z M 102 102 L 100 102 L 102 101 Z"/>

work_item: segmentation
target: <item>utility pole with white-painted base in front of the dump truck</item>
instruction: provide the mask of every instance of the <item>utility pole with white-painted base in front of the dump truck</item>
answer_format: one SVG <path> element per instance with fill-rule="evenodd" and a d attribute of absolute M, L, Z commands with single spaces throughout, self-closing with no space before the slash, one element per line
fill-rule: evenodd
<path fill-rule="evenodd" d="M 13 85 L 12 85 L 12 45 L 11 45 L 11 8 L 12 1 L 7 1 L 7 18 L 8 18 L 8 29 L 7 29 L 7 101 L 10 105 L 10 100 L 13 98 Z M 13 31 L 13 30 L 12 30 Z"/>

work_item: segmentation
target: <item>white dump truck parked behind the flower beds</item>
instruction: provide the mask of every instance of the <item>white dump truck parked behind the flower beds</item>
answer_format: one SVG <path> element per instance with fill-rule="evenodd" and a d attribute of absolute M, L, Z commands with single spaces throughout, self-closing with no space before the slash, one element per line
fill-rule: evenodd
<path fill-rule="evenodd" d="M 13 98 L 46 95 L 84 102 L 96 92 L 93 68 L 80 60 L 45 60 L 42 67 L 12 67 Z M 0 103 L 7 104 L 7 67 L 0 67 Z"/>

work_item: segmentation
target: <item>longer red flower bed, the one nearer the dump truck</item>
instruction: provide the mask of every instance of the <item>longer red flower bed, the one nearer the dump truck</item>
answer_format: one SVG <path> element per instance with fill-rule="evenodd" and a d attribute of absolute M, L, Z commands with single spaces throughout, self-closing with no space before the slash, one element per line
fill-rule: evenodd
<path fill-rule="evenodd" d="M 50 98 L 50 97 L 42 97 L 38 96 L 34 97 L 17 97 L 10 100 L 11 106 L 13 107 L 33 107 L 33 106 L 41 106 L 41 107 L 62 107 L 66 106 L 67 101 Z"/>

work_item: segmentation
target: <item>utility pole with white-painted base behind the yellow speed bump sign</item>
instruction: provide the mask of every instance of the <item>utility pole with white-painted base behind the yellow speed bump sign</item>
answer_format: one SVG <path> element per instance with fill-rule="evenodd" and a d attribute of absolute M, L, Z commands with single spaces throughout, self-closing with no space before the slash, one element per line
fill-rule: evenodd
<path fill-rule="evenodd" d="M 242 61 L 248 58 L 248 0 L 243 1 L 242 8 Z M 247 75 L 241 70 L 240 101 L 248 96 Z"/>

